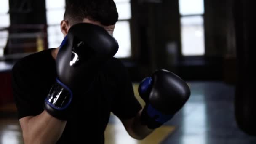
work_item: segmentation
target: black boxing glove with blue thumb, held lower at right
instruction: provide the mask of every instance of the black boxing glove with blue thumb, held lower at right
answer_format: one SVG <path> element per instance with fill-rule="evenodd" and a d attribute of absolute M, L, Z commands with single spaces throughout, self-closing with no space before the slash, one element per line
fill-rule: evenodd
<path fill-rule="evenodd" d="M 141 122 L 150 129 L 170 120 L 187 102 L 190 89 L 184 80 L 167 70 L 156 70 L 139 85 L 139 95 L 146 105 Z"/>

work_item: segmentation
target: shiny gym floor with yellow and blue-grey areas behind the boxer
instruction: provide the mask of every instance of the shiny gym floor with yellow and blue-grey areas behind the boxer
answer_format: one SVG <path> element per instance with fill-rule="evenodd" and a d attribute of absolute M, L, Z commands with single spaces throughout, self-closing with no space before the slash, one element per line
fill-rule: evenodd
<path fill-rule="evenodd" d="M 235 123 L 234 86 L 222 82 L 188 84 L 192 92 L 189 101 L 163 127 L 137 141 L 111 115 L 105 144 L 256 144 L 256 137 L 241 132 Z M 134 90 L 137 87 L 134 84 Z M 0 111 L 0 144 L 23 144 L 15 106 L 8 104 Z"/>

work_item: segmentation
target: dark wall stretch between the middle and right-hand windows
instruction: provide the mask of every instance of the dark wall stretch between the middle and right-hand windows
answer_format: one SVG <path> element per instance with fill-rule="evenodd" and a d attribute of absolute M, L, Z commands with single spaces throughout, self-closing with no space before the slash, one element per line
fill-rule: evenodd
<path fill-rule="evenodd" d="M 180 45 L 178 0 L 162 3 L 131 0 L 131 5 L 132 61 L 137 70 L 133 71 L 134 80 L 141 80 L 155 69 L 175 71 L 173 58 L 177 55 L 171 55 L 168 45 L 177 48 Z"/>

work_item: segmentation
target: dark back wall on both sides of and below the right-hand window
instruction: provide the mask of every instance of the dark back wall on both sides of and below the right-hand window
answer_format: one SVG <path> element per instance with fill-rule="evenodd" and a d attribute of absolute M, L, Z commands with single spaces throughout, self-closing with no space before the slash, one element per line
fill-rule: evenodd
<path fill-rule="evenodd" d="M 168 69 L 187 80 L 232 79 L 226 78 L 232 75 L 235 57 L 232 5 L 232 0 L 205 0 L 205 56 L 184 57 L 179 0 L 132 0 L 133 61 L 141 78 L 155 69 Z"/>

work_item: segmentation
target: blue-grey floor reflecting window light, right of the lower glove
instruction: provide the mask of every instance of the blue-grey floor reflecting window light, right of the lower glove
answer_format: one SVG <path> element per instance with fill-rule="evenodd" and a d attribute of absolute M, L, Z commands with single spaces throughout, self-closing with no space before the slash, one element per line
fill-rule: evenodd
<path fill-rule="evenodd" d="M 168 122 L 175 125 L 162 144 L 256 144 L 237 127 L 232 85 L 222 82 L 189 82 L 191 97 Z"/>

